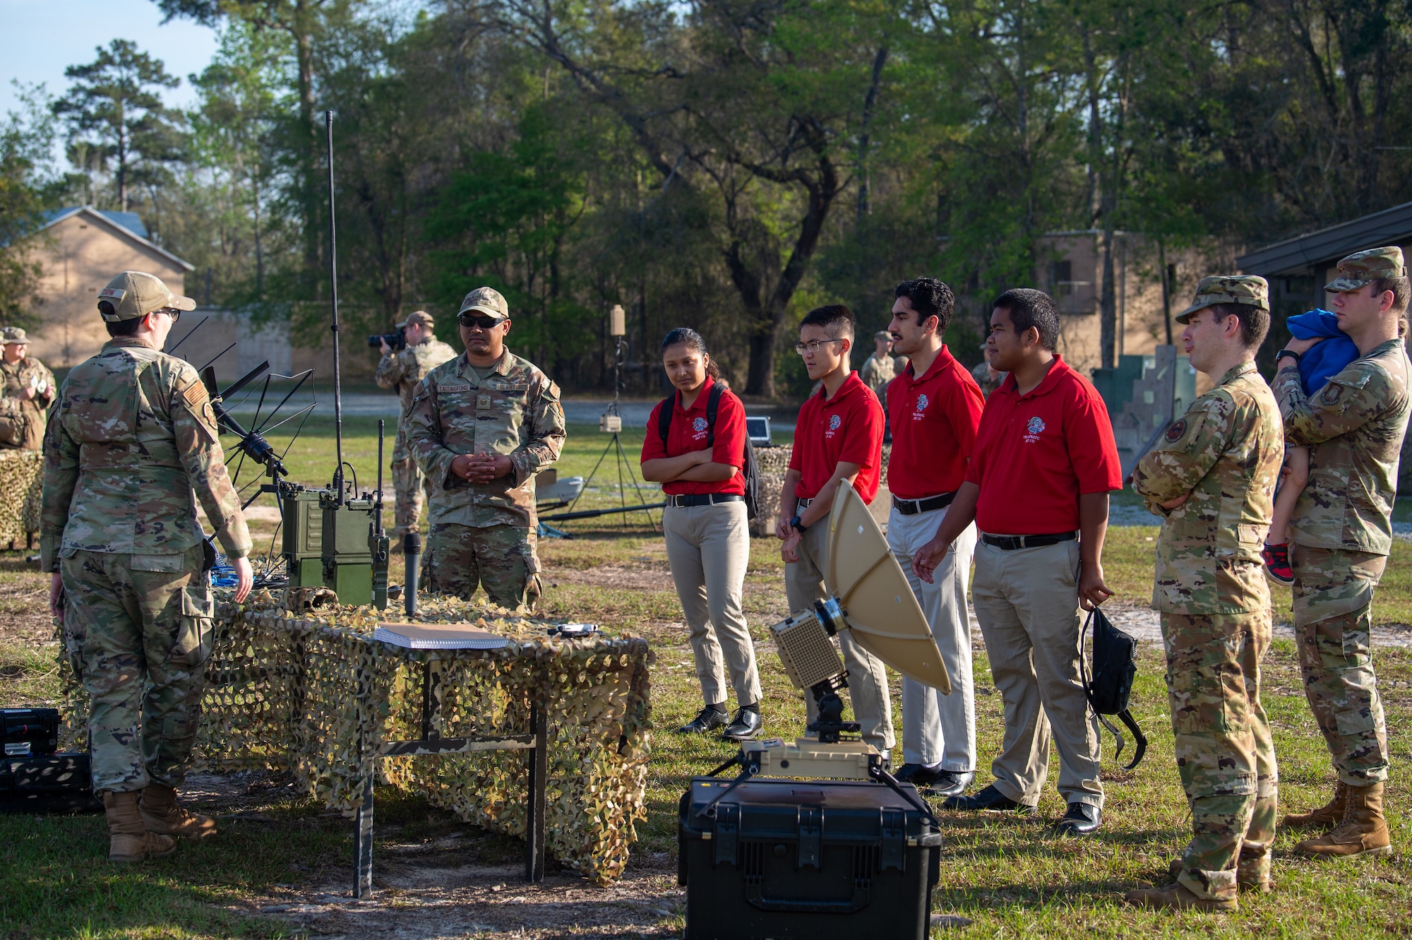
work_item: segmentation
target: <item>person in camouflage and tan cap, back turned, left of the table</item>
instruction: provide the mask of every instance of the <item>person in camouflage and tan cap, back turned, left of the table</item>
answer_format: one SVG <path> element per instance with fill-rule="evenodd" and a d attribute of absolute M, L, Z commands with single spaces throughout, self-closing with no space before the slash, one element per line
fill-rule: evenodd
<path fill-rule="evenodd" d="M 193 491 L 234 559 L 240 598 L 251 543 L 206 388 L 189 363 L 158 351 L 195 306 L 150 274 L 113 278 L 99 294 L 113 339 L 68 374 L 44 442 L 40 560 L 92 701 L 93 790 L 113 861 L 215 833 L 176 806 L 175 789 L 215 629 Z"/>

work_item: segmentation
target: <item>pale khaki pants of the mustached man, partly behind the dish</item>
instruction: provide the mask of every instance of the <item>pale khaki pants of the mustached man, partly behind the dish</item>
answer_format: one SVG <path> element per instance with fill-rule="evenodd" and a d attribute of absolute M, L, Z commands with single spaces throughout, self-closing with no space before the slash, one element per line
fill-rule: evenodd
<path fill-rule="evenodd" d="M 902 515 L 887 521 L 887 543 L 907 574 L 916 603 L 942 651 L 950 694 L 902 677 L 902 761 L 947 771 L 976 769 L 976 685 L 971 682 L 970 613 L 966 584 L 976 553 L 976 526 L 967 525 L 932 574 L 928 584 L 912 573 L 912 552 L 932 541 L 946 510 Z"/>

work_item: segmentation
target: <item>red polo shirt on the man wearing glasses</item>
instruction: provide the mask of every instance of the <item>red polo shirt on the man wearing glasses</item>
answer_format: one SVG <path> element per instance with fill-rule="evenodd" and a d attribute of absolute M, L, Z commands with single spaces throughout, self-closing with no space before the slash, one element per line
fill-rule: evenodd
<path fill-rule="evenodd" d="M 840 463 L 856 463 L 863 469 L 853 488 L 864 502 L 873 502 L 882 477 L 882 429 L 887 425 L 882 405 L 857 373 L 849 373 L 832 399 L 823 397 L 826 391 L 819 388 L 819 394 L 810 395 L 799 409 L 789 452 L 789 469 L 799 471 L 795 495 L 812 500 Z"/>

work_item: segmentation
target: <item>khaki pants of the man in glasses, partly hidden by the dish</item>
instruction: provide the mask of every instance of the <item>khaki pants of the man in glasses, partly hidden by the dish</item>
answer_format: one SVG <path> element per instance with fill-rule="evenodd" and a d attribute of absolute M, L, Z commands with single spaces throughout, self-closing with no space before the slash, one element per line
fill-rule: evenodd
<path fill-rule="evenodd" d="M 805 610 L 813 601 L 829 596 L 823 587 L 823 549 L 827 541 L 829 522 L 819 519 L 799 541 L 799 560 L 785 565 L 785 596 L 789 598 L 791 613 Z M 849 697 L 853 700 L 853 717 L 858 723 L 863 740 L 878 751 L 891 751 L 895 738 L 882 661 L 856 644 L 847 629 L 839 632 L 839 649 L 849 670 Z M 813 696 L 808 689 L 803 694 L 809 721 L 813 721 L 819 717 Z"/>

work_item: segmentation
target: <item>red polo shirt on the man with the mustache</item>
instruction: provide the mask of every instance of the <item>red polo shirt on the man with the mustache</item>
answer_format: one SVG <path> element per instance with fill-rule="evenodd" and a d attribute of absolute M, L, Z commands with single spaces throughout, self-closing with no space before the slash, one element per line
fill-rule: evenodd
<path fill-rule="evenodd" d="M 966 480 L 986 397 L 971 374 L 942 346 L 918 378 L 908 366 L 887 387 L 892 456 L 887 488 L 902 500 L 955 493 Z"/>

